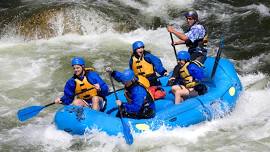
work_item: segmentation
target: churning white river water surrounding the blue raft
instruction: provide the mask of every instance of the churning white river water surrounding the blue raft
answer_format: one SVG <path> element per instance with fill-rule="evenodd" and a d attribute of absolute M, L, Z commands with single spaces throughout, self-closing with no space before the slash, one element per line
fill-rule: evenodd
<path fill-rule="evenodd" d="M 165 4 L 162 2 L 159 4 Z M 168 6 L 151 3 L 142 11 L 146 14 L 159 9 L 164 11 L 175 2 L 179 1 L 169 1 Z M 179 5 L 189 6 L 191 2 Z M 131 0 L 123 3 L 139 5 L 134 5 L 136 2 Z M 163 11 L 159 13 L 166 14 Z M 159 56 L 168 70 L 175 64 L 165 28 L 140 28 L 130 33 L 112 30 L 102 34 L 91 30 L 86 33 L 84 36 L 68 34 L 28 42 L 18 37 L 0 40 L 0 151 L 269 151 L 270 81 L 263 73 L 240 75 L 243 86 L 248 89 L 243 91 L 231 115 L 188 128 L 171 131 L 161 128 L 135 134 L 134 144 L 130 147 L 121 136 L 110 137 L 98 131 L 71 136 L 57 130 L 51 122 L 58 106 L 47 108 L 39 116 L 20 123 L 16 118 L 18 109 L 44 105 L 61 96 L 64 83 L 71 76 L 69 64 L 73 56 L 84 56 L 87 64 L 94 66 L 107 82 L 104 66 L 126 68 L 131 44 L 136 40 L 144 41 L 146 49 Z M 185 47 L 177 46 L 177 49 Z M 266 60 L 266 57 L 237 62 L 242 72 L 249 72 L 256 69 L 254 63 L 259 59 Z"/>

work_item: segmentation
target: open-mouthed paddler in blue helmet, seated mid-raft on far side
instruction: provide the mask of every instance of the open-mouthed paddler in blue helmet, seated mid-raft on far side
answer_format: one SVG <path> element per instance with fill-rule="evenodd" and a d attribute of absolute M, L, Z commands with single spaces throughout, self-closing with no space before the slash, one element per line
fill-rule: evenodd
<path fill-rule="evenodd" d="M 144 43 L 142 41 L 135 41 L 132 44 L 132 55 L 129 60 L 129 68 L 132 69 L 136 76 L 141 75 L 148 79 L 150 86 L 161 85 L 157 79 L 158 73 L 161 76 L 167 76 L 168 72 L 163 67 L 161 60 L 144 50 Z"/>

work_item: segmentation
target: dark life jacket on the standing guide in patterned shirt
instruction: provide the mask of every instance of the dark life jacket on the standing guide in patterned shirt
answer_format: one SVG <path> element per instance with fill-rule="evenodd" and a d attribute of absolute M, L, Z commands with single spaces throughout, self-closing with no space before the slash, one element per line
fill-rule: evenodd
<path fill-rule="evenodd" d="M 201 25 L 201 24 L 196 23 L 196 25 Z M 203 28 L 205 29 L 204 26 L 203 26 Z M 206 50 L 207 43 L 208 43 L 207 30 L 205 29 L 205 35 L 204 35 L 204 37 L 202 39 L 197 39 L 194 42 L 192 42 L 190 39 L 188 39 L 185 43 L 186 43 L 186 46 L 188 47 L 189 53 L 193 53 L 193 52 L 196 52 L 196 51 L 201 52 L 201 53 L 202 52 L 207 52 L 207 50 Z"/>

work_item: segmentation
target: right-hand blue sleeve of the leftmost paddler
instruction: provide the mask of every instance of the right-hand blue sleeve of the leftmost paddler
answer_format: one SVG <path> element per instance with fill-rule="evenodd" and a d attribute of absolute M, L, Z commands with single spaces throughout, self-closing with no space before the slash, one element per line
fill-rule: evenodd
<path fill-rule="evenodd" d="M 98 75 L 96 72 L 89 72 L 87 75 L 88 80 L 90 81 L 91 84 L 99 84 L 100 86 L 100 92 L 99 95 L 102 97 L 105 97 L 108 95 L 109 92 L 109 87 L 108 85 L 101 79 L 101 77 Z"/>

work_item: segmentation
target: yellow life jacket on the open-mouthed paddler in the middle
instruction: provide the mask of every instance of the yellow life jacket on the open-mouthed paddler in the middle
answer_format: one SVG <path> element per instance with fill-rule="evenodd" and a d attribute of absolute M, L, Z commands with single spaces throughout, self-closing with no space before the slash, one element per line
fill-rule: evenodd
<path fill-rule="evenodd" d="M 153 65 L 145 61 L 144 57 L 137 59 L 135 56 L 133 56 L 132 60 L 132 70 L 136 76 L 142 75 L 148 77 L 155 73 Z"/>

